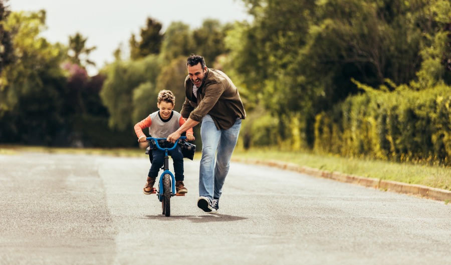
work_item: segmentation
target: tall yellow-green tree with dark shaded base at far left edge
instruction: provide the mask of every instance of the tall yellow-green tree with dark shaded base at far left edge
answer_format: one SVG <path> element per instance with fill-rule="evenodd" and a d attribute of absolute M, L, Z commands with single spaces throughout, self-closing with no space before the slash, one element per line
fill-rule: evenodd
<path fill-rule="evenodd" d="M 17 60 L 2 72 L 0 141 L 52 144 L 64 127 L 65 49 L 40 36 L 45 18 L 44 10 L 12 12 L 4 24 Z"/>

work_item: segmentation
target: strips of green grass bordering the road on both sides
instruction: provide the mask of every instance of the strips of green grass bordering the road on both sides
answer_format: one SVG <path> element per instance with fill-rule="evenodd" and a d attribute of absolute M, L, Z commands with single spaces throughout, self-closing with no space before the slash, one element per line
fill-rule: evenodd
<path fill-rule="evenodd" d="M 48 152 L 48 153 L 80 153 L 113 156 L 142 156 L 144 150 L 139 148 L 57 148 L 38 146 L 0 145 L 0 154 L 14 155 L 20 152 Z M 335 155 L 319 155 L 306 152 L 280 151 L 275 149 L 237 148 L 234 158 L 276 160 L 294 163 L 328 171 L 358 176 L 373 177 L 399 181 L 410 184 L 421 184 L 451 190 L 451 167 L 430 166 L 420 163 L 396 163 L 390 161 L 372 160 L 364 158 L 347 158 Z M 195 158 L 200 158 L 197 152 Z"/>

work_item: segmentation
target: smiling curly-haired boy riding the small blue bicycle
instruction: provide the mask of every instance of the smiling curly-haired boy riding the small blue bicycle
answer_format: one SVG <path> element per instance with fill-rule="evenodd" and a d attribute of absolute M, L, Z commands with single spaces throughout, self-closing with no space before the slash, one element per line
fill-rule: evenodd
<path fill-rule="evenodd" d="M 146 142 L 146 135 L 142 132 L 143 128 L 149 127 L 149 134 L 155 138 L 166 138 L 171 132 L 178 129 L 185 119 L 173 110 L 175 105 L 175 96 L 170 90 L 161 90 L 158 93 L 157 107 L 159 111 L 155 111 L 147 116 L 145 119 L 136 123 L 134 126 L 136 135 L 139 142 Z M 186 131 L 186 139 L 189 141 L 194 140 L 192 128 Z M 183 180 L 183 154 L 180 150 L 180 146 L 177 145 L 175 149 L 168 152 L 174 165 L 174 177 L 175 177 L 175 189 L 177 193 L 186 193 L 188 189 L 184 186 Z M 150 194 L 152 192 L 155 179 L 158 175 L 158 171 L 164 163 L 164 151 L 159 149 L 153 149 L 151 152 L 152 164 L 147 176 L 146 184 L 144 185 L 144 194 Z"/>

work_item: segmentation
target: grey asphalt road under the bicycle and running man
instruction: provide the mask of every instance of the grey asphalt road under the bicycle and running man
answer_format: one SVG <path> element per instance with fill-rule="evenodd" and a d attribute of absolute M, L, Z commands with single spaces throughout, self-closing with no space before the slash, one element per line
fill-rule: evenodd
<path fill-rule="evenodd" d="M 0 264 L 449 264 L 451 205 L 232 163 L 217 214 L 186 196 L 161 215 L 149 161 L 0 155 Z"/>

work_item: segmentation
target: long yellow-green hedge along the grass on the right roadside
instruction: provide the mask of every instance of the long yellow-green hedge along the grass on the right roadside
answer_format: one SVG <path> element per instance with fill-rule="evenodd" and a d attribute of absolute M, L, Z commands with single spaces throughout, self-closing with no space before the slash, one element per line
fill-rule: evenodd
<path fill-rule="evenodd" d="M 365 93 L 316 115 L 315 151 L 451 163 L 451 87 L 363 88 Z"/>

